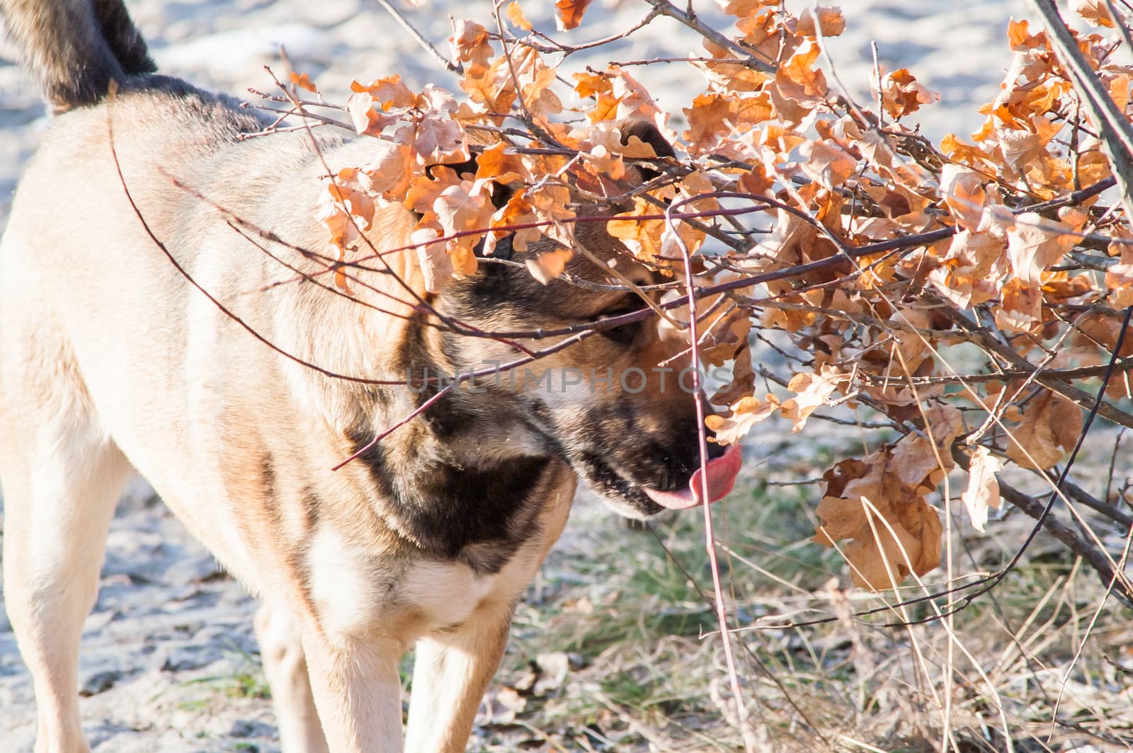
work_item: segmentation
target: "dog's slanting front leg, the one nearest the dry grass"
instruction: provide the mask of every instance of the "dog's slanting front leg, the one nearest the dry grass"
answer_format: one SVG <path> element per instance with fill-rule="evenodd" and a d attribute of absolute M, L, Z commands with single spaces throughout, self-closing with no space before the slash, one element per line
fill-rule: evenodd
<path fill-rule="evenodd" d="M 455 628 L 417 642 L 406 750 L 459 753 L 495 674 L 511 627 L 512 602 L 484 605 Z"/>

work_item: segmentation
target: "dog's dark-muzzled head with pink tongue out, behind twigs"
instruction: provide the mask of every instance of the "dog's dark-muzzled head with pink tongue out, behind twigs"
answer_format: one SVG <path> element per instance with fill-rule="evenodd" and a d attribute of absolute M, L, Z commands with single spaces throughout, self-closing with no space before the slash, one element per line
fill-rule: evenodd
<path fill-rule="evenodd" d="M 636 126 L 632 134 L 654 145 L 658 155 L 672 147 L 656 129 Z M 631 174 L 645 180 L 648 174 Z M 597 207 L 577 207 L 579 215 Z M 604 209 L 608 214 L 608 208 Z M 562 332 L 602 319 L 650 308 L 657 286 L 674 276 L 647 266 L 606 231 L 602 222 L 574 229 L 577 250 L 565 274 L 543 284 L 525 262 L 559 245 L 547 238 L 522 253 L 504 239 L 477 273 L 446 285 L 435 300 L 445 316 L 466 328 L 516 333 L 487 337 L 435 328 L 432 352 L 443 353 L 452 373 L 491 374 L 465 386 L 448 401 L 445 414 L 459 416 L 466 436 L 475 437 L 485 456 L 554 454 L 615 510 L 648 517 L 666 507 L 698 504 L 699 429 L 688 331 L 673 322 L 687 318 L 650 311 L 632 322 L 606 326 L 550 356 L 514 369 L 501 367 L 530 351 L 561 343 L 569 335 L 545 339 L 519 333 Z M 679 268 L 679 264 L 674 268 Z M 627 282 L 638 290 L 627 292 Z M 511 341 L 511 342 L 509 342 Z M 410 366 L 411 368 L 411 366 Z M 469 434 L 470 433 L 470 434 Z M 739 451 L 709 443 L 708 494 L 731 489 L 739 470 Z"/>

